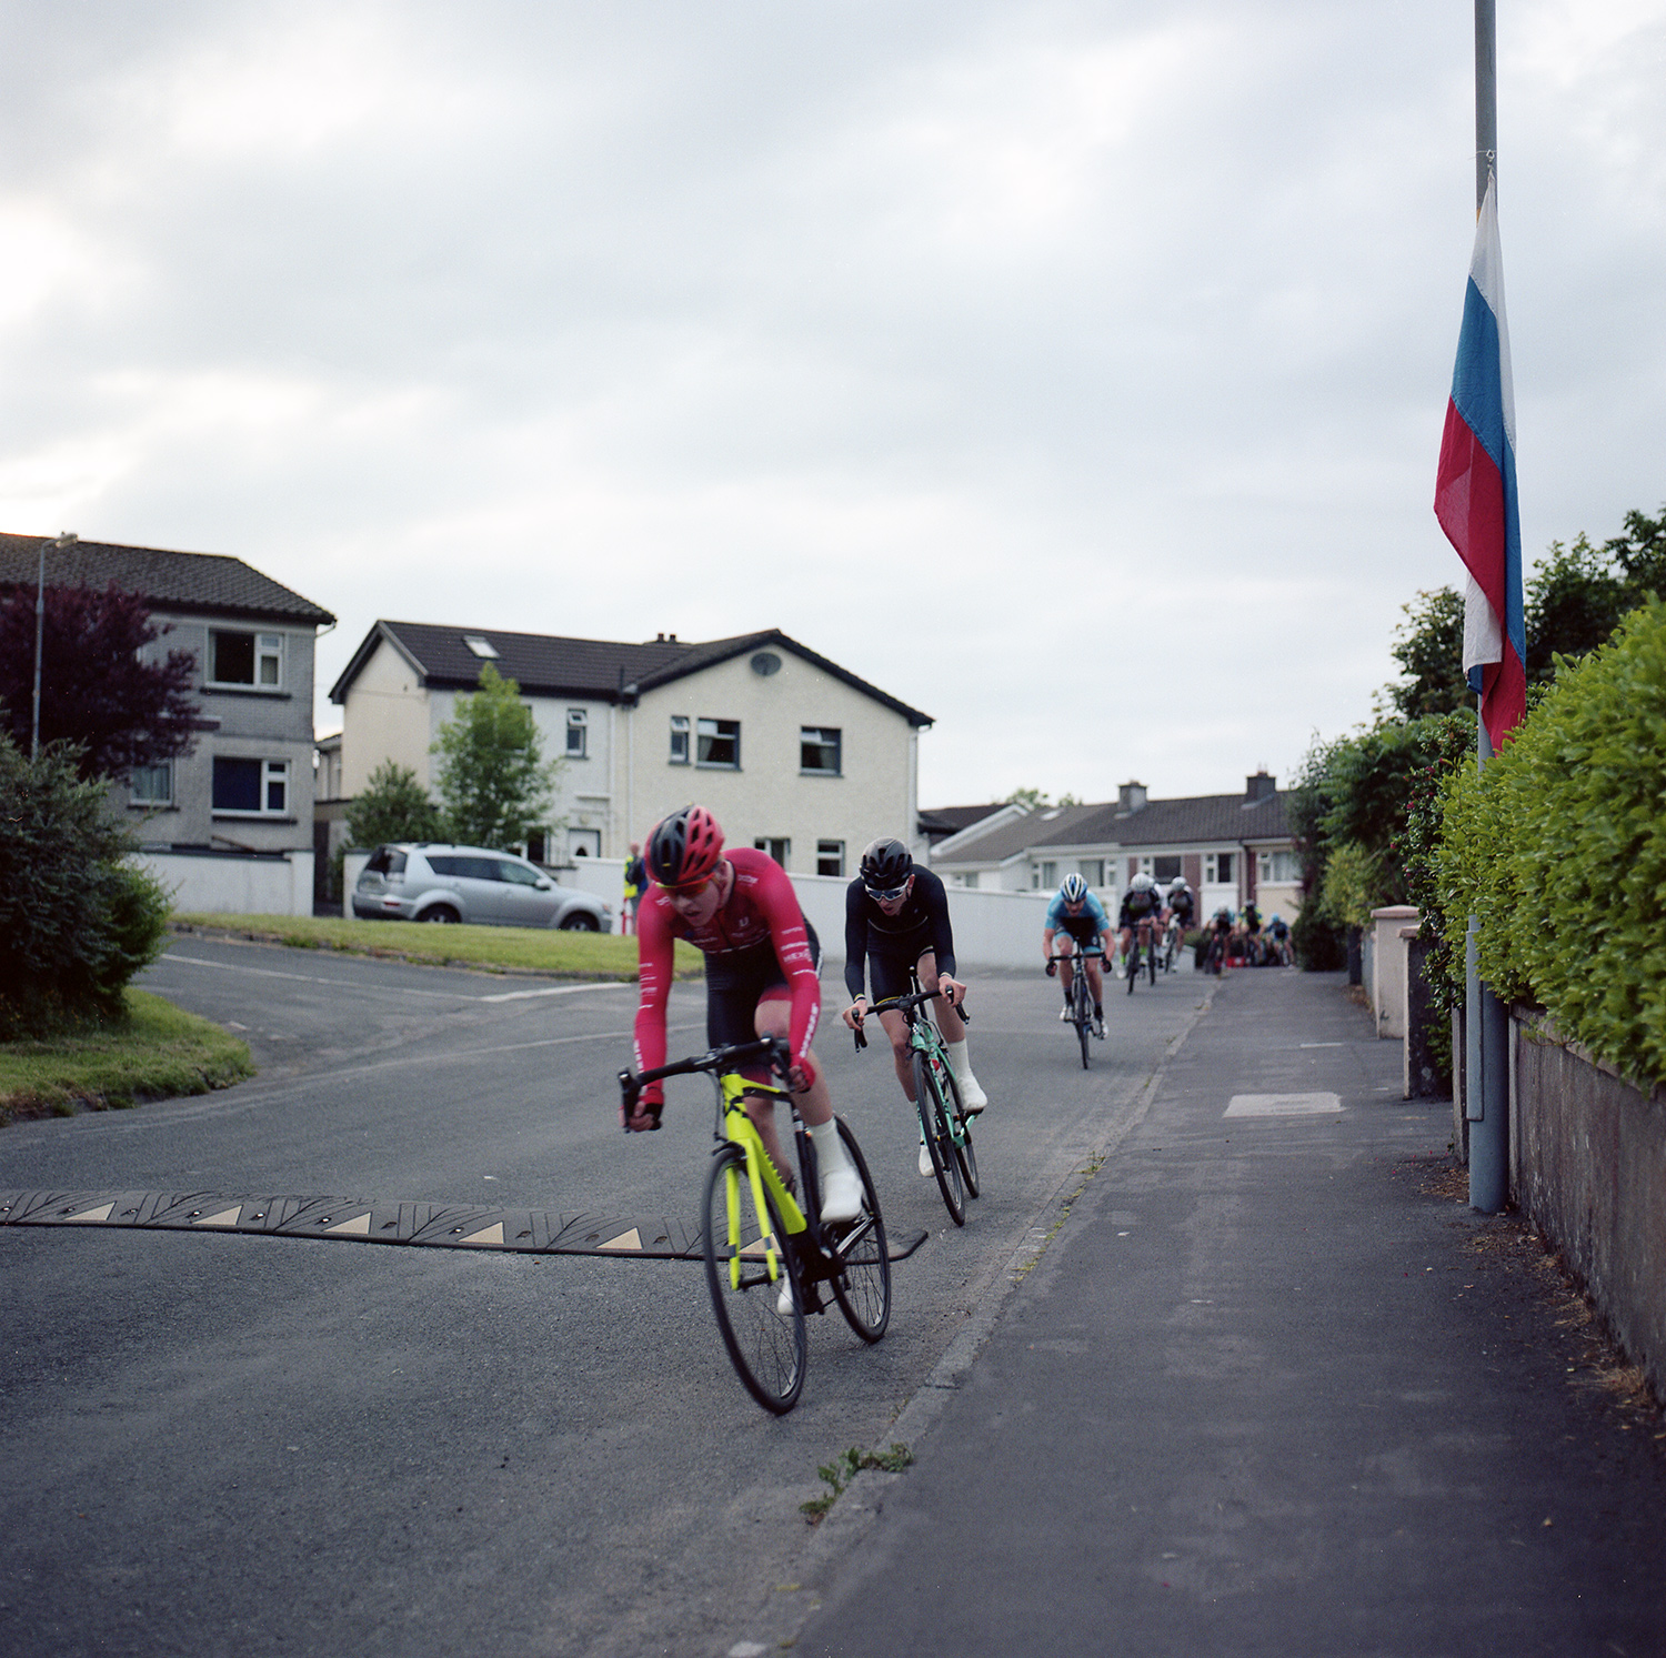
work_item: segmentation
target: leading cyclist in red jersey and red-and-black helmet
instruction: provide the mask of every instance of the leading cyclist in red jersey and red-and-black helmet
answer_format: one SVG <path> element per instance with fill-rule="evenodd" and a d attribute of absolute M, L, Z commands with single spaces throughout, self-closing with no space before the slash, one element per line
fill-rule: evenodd
<path fill-rule="evenodd" d="M 636 1068 L 665 1063 L 673 946 L 686 938 L 706 956 L 706 1040 L 720 1048 L 755 1036 L 786 1038 L 786 1086 L 816 1146 L 821 1218 L 855 1220 L 861 1181 L 845 1155 L 826 1076 L 810 1050 L 821 1016 L 821 951 L 786 871 L 763 851 L 736 846 L 725 853 L 723 831 L 705 807 L 685 807 L 655 825 L 645 861 L 653 886 L 636 910 Z M 761 1070 L 745 1075 L 771 1080 Z M 636 1133 L 658 1128 L 663 1103 L 663 1086 L 648 1083 L 625 1126 Z M 776 1170 L 790 1178 L 793 1165 L 775 1131 L 775 1101 L 748 1095 L 746 1115 Z"/>

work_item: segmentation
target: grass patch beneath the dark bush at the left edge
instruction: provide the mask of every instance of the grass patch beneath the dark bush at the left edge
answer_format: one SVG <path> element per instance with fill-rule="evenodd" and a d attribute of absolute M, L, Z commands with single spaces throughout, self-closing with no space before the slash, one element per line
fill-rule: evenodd
<path fill-rule="evenodd" d="M 0 1043 L 0 1125 L 208 1093 L 255 1075 L 248 1048 L 218 1025 L 143 990 L 125 996 L 125 1025 Z"/>

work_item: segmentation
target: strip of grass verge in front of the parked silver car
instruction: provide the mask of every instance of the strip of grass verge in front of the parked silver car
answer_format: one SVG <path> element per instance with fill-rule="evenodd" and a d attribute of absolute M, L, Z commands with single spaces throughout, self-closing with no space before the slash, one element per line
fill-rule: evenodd
<path fill-rule="evenodd" d="M 430 921 L 360 921 L 333 915 L 175 915 L 178 933 L 248 938 L 292 950 L 392 956 L 420 966 L 471 966 L 486 973 L 551 978 L 636 978 L 636 940 L 618 933 L 563 933 L 546 926 L 438 926 Z M 703 956 L 678 941 L 676 976 L 698 978 Z"/>

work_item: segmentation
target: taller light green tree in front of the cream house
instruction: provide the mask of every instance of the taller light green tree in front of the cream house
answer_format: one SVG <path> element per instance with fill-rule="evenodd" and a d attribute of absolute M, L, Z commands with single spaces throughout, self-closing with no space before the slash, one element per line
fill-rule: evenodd
<path fill-rule="evenodd" d="M 440 757 L 446 831 L 470 846 L 525 845 L 555 792 L 560 760 L 543 758 L 531 710 L 515 680 L 488 662 L 480 690 L 458 698 L 431 750 Z"/>

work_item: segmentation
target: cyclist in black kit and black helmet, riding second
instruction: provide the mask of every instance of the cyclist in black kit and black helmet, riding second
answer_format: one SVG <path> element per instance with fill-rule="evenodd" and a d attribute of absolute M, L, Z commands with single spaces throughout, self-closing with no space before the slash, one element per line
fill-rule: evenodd
<path fill-rule="evenodd" d="M 870 1011 L 863 993 L 863 968 L 873 981 L 873 1000 L 908 995 L 908 973 L 920 976 L 920 988 L 936 991 L 933 1013 L 948 1061 L 960 1085 L 961 1105 L 976 1116 L 990 1101 L 966 1056 L 966 1025 L 956 1013 L 966 986 L 955 978 L 955 933 L 948 921 L 948 893 L 940 876 L 921 868 L 900 840 L 873 841 L 861 855 L 861 873 L 845 888 L 845 988 L 851 1005 L 845 1023 L 860 1030 Z M 908 1021 L 901 1013 L 880 1013 L 891 1038 L 891 1058 L 903 1093 L 913 1103 L 913 1068 Z M 920 1146 L 920 1173 L 931 1173 L 931 1156 Z"/>

